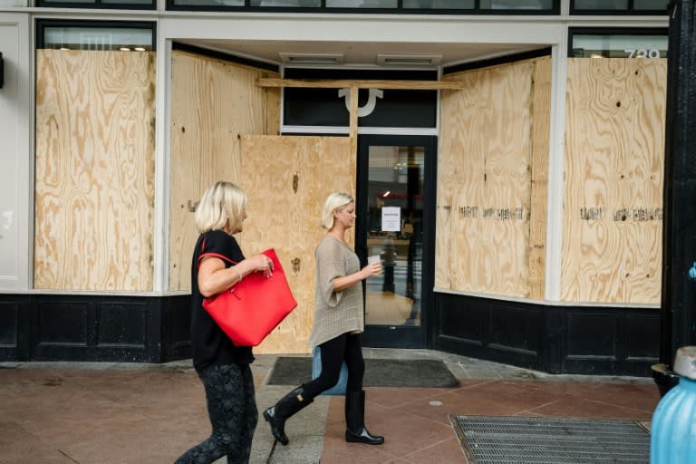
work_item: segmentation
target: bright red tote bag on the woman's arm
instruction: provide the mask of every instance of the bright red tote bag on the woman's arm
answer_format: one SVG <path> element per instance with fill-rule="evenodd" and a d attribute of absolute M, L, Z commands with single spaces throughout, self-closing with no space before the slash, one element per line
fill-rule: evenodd
<path fill-rule="evenodd" d="M 267 249 L 264 255 L 273 261 L 273 275 L 266 278 L 259 272 L 249 274 L 224 292 L 203 300 L 205 310 L 237 346 L 256 346 L 263 342 L 297 307 L 275 250 Z M 206 253 L 198 257 L 198 265 L 206 256 L 237 264 L 227 256 Z"/>

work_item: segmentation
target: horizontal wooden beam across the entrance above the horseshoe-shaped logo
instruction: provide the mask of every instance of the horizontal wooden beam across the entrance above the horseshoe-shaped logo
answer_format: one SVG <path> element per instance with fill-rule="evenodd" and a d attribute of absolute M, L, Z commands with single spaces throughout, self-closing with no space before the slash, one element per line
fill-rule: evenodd
<path fill-rule="evenodd" d="M 459 90 L 462 82 L 445 81 L 356 81 L 351 79 L 323 80 L 323 79 L 274 79 L 259 78 L 256 81 L 259 87 L 304 87 L 313 89 L 343 89 L 345 87 L 357 87 L 358 89 L 382 89 L 402 91 L 430 91 L 430 90 Z"/>

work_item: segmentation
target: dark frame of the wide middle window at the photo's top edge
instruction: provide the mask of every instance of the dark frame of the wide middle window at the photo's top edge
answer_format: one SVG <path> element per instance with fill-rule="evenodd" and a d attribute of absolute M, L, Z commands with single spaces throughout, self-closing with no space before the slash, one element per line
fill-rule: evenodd
<path fill-rule="evenodd" d="M 273 12 L 273 13 L 335 13 L 335 14 L 457 14 L 457 15 L 558 15 L 561 11 L 561 0 L 552 0 L 552 7 L 548 10 L 492 10 L 480 9 L 480 0 L 474 0 L 472 9 L 433 9 L 433 8 L 403 8 L 403 1 L 398 0 L 395 8 L 330 8 L 326 7 L 326 0 L 321 0 L 321 6 L 251 6 L 251 0 L 244 0 L 243 6 L 228 5 L 174 5 L 175 0 L 167 0 L 165 6 L 168 11 L 234 11 L 234 12 Z"/>

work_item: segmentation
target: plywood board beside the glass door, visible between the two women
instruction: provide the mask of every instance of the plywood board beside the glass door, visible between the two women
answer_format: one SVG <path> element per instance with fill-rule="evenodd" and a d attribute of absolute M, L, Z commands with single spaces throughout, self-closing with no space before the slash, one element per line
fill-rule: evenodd
<path fill-rule="evenodd" d="M 354 196 L 352 147 L 351 138 L 241 138 L 242 185 L 248 196 L 242 247 L 247 255 L 275 248 L 298 304 L 255 353 L 308 353 L 314 248 L 324 237 L 319 219 L 329 194 L 345 191 Z"/>

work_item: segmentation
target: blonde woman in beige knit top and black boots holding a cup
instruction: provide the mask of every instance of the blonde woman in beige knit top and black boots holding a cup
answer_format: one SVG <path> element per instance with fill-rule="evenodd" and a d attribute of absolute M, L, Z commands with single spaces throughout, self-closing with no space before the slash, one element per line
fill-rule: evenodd
<path fill-rule="evenodd" d="M 364 331 L 362 280 L 381 271 L 380 263 L 360 267 L 360 260 L 345 241 L 345 231 L 355 222 L 355 200 L 345 193 L 333 193 L 324 202 L 321 226 L 328 232 L 316 247 L 316 289 L 314 328 L 309 347 L 321 347 L 322 373 L 290 391 L 275 406 L 264 411 L 275 440 L 286 445 L 285 420 L 314 401 L 339 379 L 341 365 L 348 368 L 345 392 L 345 440 L 380 445 L 383 437 L 372 435 L 364 424 L 365 392 L 362 376 L 360 333 Z"/>

